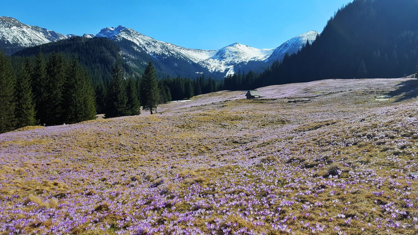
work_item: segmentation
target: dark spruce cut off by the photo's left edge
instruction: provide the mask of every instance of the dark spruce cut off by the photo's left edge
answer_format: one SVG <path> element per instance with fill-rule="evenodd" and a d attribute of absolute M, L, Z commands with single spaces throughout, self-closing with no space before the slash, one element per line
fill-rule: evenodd
<path fill-rule="evenodd" d="M 0 52 L 0 133 L 15 128 L 13 70 L 4 51 Z"/>

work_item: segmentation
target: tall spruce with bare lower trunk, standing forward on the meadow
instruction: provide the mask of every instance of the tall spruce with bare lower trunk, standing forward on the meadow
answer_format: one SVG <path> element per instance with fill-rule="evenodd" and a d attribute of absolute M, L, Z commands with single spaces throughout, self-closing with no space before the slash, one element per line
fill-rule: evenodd
<path fill-rule="evenodd" d="M 145 68 L 140 83 L 140 96 L 143 110 L 149 110 L 153 114 L 153 109 L 157 112 L 160 103 L 160 91 L 158 89 L 157 72 L 150 61 Z"/>

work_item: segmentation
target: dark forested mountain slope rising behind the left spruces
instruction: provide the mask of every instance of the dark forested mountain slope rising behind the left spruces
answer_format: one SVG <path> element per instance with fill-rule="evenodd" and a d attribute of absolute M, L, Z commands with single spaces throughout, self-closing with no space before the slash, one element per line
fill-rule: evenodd
<path fill-rule="evenodd" d="M 121 64 L 125 78 L 141 77 L 149 61 L 153 62 L 159 78 L 181 76 L 194 79 L 205 75 L 217 80 L 223 79 L 222 73 L 211 74 L 199 64 L 178 58 L 156 59 L 145 51 L 135 50 L 135 46 L 128 40 L 111 41 L 107 38 L 73 37 L 23 49 L 16 52 L 12 60 L 14 64 L 20 65 L 23 63 L 22 57 L 34 57 L 39 51 L 42 51 L 46 57 L 52 52 L 62 52 L 67 58 L 77 54 L 80 64 L 87 68 L 94 84 L 109 82 L 115 63 Z M 199 71 L 200 74 L 196 74 L 195 71 Z"/>

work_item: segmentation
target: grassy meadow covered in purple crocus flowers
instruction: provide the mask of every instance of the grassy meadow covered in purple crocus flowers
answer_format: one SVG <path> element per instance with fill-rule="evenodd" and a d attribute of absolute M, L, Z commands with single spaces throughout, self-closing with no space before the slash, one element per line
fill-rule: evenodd
<path fill-rule="evenodd" d="M 216 92 L 0 135 L 0 234 L 417 234 L 418 81 Z"/>

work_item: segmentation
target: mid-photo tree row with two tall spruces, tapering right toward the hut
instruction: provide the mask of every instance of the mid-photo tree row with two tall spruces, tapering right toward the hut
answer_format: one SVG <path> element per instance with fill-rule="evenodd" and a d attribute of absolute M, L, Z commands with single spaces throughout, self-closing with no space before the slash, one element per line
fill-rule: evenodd
<path fill-rule="evenodd" d="M 150 61 L 141 78 L 124 77 L 117 64 L 112 69 L 109 83 L 97 84 L 97 110 L 105 117 L 139 115 L 140 108 L 157 112 L 158 105 L 171 100 L 189 99 L 196 95 L 223 89 L 222 82 L 205 79 L 204 75 L 189 79 L 183 77 L 158 79 L 157 71 Z"/>

